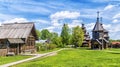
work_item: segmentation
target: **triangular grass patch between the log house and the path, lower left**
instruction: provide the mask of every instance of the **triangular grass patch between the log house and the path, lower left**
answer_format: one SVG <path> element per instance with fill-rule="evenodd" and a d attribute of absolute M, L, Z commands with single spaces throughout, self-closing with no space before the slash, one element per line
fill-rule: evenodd
<path fill-rule="evenodd" d="M 15 61 L 18 61 L 18 60 L 22 60 L 22 59 L 25 59 L 25 58 L 30 58 L 31 56 L 0 56 L 0 65 L 2 64 L 6 64 L 6 63 L 10 63 L 10 62 L 15 62 Z"/>

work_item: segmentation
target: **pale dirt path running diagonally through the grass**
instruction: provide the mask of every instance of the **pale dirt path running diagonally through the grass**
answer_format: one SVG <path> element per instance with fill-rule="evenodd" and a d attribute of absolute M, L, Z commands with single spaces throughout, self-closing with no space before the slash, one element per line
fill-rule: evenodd
<path fill-rule="evenodd" d="M 57 52 L 59 52 L 59 51 L 61 51 L 63 49 L 60 49 L 60 50 L 57 50 L 57 51 L 53 51 L 53 52 L 44 53 L 44 54 L 31 54 L 31 55 L 35 55 L 35 56 L 31 57 L 31 58 L 28 58 L 28 59 L 23 59 L 23 60 L 20 60 L 20 61 L 11 62 L 11 63 L 4 64 L 4 65 L 0 65 L 0 67 L 9 67 L 9 66 L 16 65 L 16 64 L 19 64 L 19 63 L 23 63 L 23 62 L 26 62 L 26 61 L 30 61 L 30 60 L 33 60 L 33 59 L 36 59 L 36 58 L 46 57 L 46 56 L 53 56 L 53 55 L 56 55 Z"/>

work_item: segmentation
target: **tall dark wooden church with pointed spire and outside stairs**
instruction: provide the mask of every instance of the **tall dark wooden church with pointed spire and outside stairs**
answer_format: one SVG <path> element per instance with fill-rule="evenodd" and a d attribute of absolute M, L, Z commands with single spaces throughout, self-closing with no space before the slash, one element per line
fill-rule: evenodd
<path fill-rule="evenodd" d="M 97 14 L 97 21 L 92 30 L 92 40 L 91 48 L 92 49 L 106 49 L 109 44 L 108 31 L 105 30 L 102 26 L 102 23 L 99 21 L 99 12 Z"/>

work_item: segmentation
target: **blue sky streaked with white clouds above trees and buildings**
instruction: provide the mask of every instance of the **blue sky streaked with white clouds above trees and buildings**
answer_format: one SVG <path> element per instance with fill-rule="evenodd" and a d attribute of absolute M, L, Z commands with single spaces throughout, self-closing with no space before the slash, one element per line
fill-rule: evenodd
<path fill-rule="evenodd" d="M 0 23 L 35 22 L 39 30 L 61 32 L 84 23 L 90 32 L 96 22 L 96 12 L 111 39 L 120 39 L 119 0 L 0 0 Z"/>

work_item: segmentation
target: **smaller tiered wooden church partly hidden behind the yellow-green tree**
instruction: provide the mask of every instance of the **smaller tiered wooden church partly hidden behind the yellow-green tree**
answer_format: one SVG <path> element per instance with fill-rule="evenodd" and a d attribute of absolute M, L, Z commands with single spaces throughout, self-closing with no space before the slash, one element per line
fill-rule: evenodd
<path fill-rule="evenodd" d="M 91 40 L 90 40 L 90 35 L 86 30 L 86 27 L 84 26 L 84 24 L 82 24 L 82 30 L 84 32 L 84 40 L 82 43 L 82 47 L 90 47 L 91 46 Z"/>

